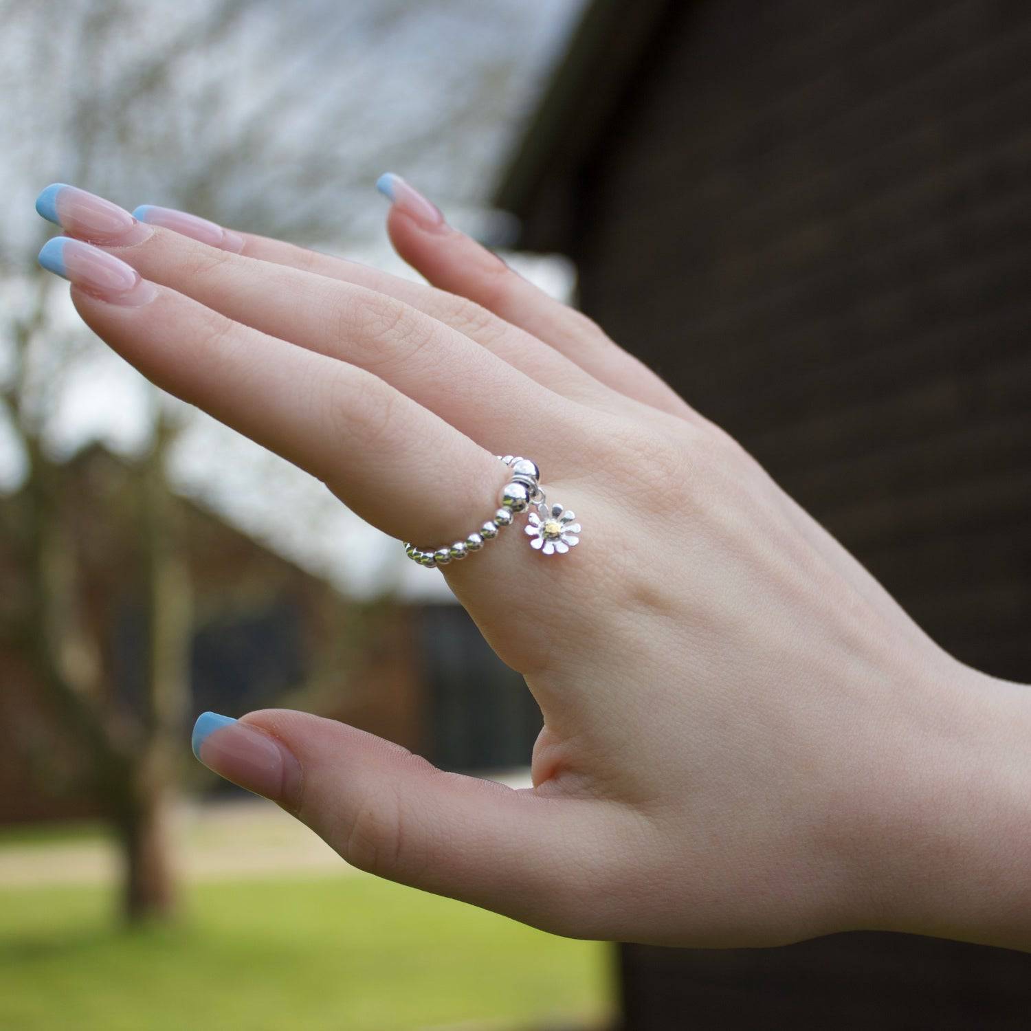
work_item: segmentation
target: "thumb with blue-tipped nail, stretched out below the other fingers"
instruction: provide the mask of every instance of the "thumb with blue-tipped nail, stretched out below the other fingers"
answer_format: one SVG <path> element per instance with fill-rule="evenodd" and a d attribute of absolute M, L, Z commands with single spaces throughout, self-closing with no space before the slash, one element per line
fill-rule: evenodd
<path fill-rule="evenodd" d="M 400 745 L 293 709 L 240 720 L 204 712 L 193 747 L 353 866 L 548 930 L 572 920 L 580 933 L 576 897 L 591 878 L 569 853 L 597 839 L 587 827 L 596 803 L 445 773 Z"/>

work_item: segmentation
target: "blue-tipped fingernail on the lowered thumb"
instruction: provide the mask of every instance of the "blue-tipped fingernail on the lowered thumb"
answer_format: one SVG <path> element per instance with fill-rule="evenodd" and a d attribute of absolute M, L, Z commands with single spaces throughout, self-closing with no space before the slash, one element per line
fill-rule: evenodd
<path fill-rule="evenodd" d="M 301 764 L 271 734 L 229 716 L 201 712 L 191 743 L 219 776 L 288 806 L 300 798 Z"/>

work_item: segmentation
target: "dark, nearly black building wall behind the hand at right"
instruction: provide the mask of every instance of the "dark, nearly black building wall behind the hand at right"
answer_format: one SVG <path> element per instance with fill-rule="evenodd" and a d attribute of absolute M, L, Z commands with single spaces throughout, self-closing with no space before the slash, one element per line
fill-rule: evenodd
<path fill-rule="evenodd" d="M 1031 681 L 1031 5 L 669 10 L 530 236 L 568 224 L 589 314 L 944 647 Z M 1018 1028 L 1031 1004 L 1031 957 L 899 936 L 621 963 L 633 1031 Z"/>

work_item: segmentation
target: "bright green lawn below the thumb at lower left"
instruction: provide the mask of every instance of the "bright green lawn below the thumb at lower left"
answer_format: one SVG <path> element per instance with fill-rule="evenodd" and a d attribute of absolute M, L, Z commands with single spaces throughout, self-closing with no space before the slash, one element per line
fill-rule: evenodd
<path fill-rule="evenodd" d="M 394 1031 L 597 1023 L 607 947 L 371 877 L 203 884 L 117 929 L 96 887 L 0 890 L 0 1027 Z"/>

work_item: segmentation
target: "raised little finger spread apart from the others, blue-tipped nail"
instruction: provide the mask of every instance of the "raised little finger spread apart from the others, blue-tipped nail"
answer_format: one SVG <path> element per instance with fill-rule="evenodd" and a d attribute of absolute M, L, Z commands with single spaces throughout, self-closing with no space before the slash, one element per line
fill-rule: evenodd
<path fill-rule="evenodd" d="M 377 184 L 392 201 L 388 231 L 397 253 L 433 286 L 460 294 L 525 329 L 596 379 L 661 411 L 700 421 L 683 398 L 590 319 L 560 304 L 500 258 L 452 229 L 439 209 L 399 176 Z"/>

